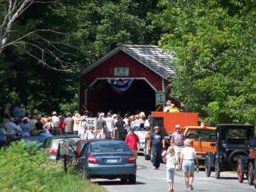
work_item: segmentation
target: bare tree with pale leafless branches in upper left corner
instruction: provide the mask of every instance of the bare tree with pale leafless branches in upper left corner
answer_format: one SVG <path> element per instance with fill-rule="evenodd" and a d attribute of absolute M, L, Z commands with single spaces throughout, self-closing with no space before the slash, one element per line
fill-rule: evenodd
<path fill-rule="evenodd" d="M 66 71 L 73 66 L 69 61 L 72 56 L 67 51 L 71 46 L 45 37 L 46 33 L 57 35 L 65 35 L 65 33 L 52 28 L 36 28 L 41 23 L 36 20 L 25 22 L 26 24 L 23 25 L 22 15 L 35 4 L 58 4 L 58 1 L 1 0 L 0 55 L 7 47 L 14 46 L 19 54 L 26 53 L 48 68 Z M 37 50 L 38 53 L 32 53 L 31 50 Z M 54 65 L 49 64 L 52 63 L 49 62 L 49 58 L 54 60 Z"/>

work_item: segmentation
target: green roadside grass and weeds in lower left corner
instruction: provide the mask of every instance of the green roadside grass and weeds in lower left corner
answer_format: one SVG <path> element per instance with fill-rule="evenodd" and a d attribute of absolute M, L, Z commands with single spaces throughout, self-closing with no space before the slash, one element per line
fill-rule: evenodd
<path fill-rule="evenodd" d="M 64 174 L 62 162 L 46 160 L 45 151 L 31 144 L 13 142 L 0 149 L 1 192 L 107 192 L 107 189 L 82 180 L 71 167 Z"/>

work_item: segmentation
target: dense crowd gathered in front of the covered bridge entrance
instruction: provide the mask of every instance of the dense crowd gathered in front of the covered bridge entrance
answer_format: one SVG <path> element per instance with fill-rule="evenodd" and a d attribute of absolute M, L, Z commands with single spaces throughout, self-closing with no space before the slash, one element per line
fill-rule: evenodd
<path fill-rule="evenodd" d="M 119 139 L 125 141 L 132 129 L 149 129 L 149 119 L 144 112 L 131 115 L 97 113 L 97 126 L 87 127 L 86 119 L 92 114 L 75 111 L 65 114 L 52 112 L 48 114 L 28 114 L 23 104 L 11 107 L 8 103 L 4 109 L 4 118 L 0 122 L 0 147 L 22 137 L 38 136 L 41 133 L 50 135 L 78 134 L 81 139 Z M 149 117 L 150 118 L 150 117 Z"/>

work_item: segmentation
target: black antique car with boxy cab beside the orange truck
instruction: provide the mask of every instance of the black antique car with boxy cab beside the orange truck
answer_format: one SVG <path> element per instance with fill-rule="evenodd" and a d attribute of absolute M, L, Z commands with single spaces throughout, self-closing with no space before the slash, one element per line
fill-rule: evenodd
<path fill-rule="evenodd" d="M 206 153 L 206 176 L 215 169 L 215 177 L 220 178 L 220 171 L 236 171 L 238 159 L 247 156 L 247 143 L 253 137 L 254 125 L 218 124 L 216 130 L 216 151 Z"/>

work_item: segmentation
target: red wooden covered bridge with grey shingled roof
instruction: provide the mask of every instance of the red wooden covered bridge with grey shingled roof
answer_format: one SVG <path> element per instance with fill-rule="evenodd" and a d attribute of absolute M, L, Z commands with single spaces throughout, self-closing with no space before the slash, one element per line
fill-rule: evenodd
<path fill-rule="evenodd" d="M 172 60 L 158 46 L 114 48 L 82 71 L 80 111 L 148 114 L 159 110 L 166 100 L 164 87 L 169 76 L 174 76 Z"/>

